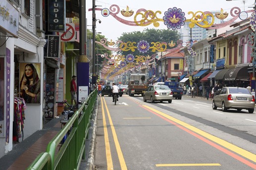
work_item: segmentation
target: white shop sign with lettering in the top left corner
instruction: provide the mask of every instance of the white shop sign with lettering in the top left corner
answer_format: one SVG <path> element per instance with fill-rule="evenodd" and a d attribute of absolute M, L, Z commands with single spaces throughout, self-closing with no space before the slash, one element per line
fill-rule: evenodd
<path fill-rule="evenodd" d="M 0 0 L 0 32 L 18 37 L 19 11 L 8 0 Z"/>

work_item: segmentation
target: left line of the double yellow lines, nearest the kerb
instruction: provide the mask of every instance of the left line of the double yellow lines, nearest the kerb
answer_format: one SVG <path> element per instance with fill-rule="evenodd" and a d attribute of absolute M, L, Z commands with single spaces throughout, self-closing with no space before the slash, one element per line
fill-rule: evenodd
<path fill-rule="evenodd" d="M 102 102 L 102 100 L 101 100 Z M 113 162 L 111 157 L 111 151 L 110 151 L 110 145 L 109 145 L 109 139 L 108 139 L 108 133 L 107 133 L 107 127 L 106 127 L 106 119 L 105 119 L 105 111 L 103 108 L 103 102 L 102 102 L 102 119 L 103 119 L 103 129 L 104 129 L 104 139 L 105 139 L 105 149 L 106 149 L 106 164 L 107 164 L 107 170 L 113 170 Z"/>

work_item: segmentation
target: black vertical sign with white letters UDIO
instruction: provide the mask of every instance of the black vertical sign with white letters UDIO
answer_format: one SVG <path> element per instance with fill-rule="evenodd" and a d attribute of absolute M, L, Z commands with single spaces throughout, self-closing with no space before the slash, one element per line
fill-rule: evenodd
<path fill-rule="evenodd" d="M 48 0 L 48 31 L 64 32 L 65 29 L 65 0 Z"/>

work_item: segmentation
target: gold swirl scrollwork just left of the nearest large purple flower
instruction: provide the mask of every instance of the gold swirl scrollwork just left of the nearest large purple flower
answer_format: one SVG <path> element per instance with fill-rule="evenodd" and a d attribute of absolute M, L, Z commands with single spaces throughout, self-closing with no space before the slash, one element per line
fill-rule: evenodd
<path fill-rule="evenodd" d="M 156 11 L 154 13 L 154 11 L 152 10 L 147 10 L 145 13 L 143 13 L 144 11 L 138 12 L 136 13 L 136 15 L 134 16 L 134 22 L 137 26 L 148 26 L 150 24 L 153 23 L 154 27 L 159 27 L 159 21 L 163 22 L 162 18 L 157 18 L 157 14 L 161 14 L 161 11 Z M 137 17 L 141 16 L 142 19 L 139 20 L 139 22 L 137 21 Z"/>

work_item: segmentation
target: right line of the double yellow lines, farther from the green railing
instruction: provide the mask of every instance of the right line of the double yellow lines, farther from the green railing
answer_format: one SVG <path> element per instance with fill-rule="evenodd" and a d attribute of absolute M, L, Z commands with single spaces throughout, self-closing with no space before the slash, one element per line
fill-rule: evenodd
<path fill-rule="evenodd" d="M 118 155 L 118 158 L 119 158 L 121 170 L 127 170 L 126 163 L 125 163 L 124 157 L 123 157 L 123 153 L 122 153 L 122 150 L 121 150 L 121 147 L 120 147 L 120 144 L 119 144 L 116 132 L 115 132 L 115 128 L 113 126 L 113 122 L 112 122 L 110 113 L 108 111 L 107 105 L 106 105 L 106 101 L 105 101 L 105 99 L 103 99 L 103 101 L 104 101 L 107 116 L 108 116 L 108 119 L 109 119 L 109 125 L 110 125 L 111 130 L 112 130 L 112 134 L 113 134 L 113 138 L 114 138 L 114 142 L 115 142 L 115 148 L 116 148 L 117 155 Z"/>

